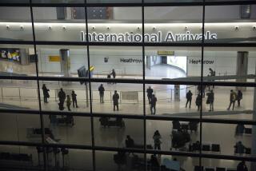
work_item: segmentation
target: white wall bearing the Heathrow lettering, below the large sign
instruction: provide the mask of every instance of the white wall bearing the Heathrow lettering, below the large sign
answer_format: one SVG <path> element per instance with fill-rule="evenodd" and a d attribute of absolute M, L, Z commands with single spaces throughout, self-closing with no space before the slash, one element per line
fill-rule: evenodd
<path fill-rule="evenodd" d="M 146 50 L 146 55 L 156 55 L 156 50 Z M 39 50 L 39 70 L 42 72 L 60 73 L 59 62 L 49 62 L 48 56 L 59 55 L 58 50 L 42 49 Z M 200 51 L 175 51 L 177 56 L 187 56 L 187 74 L 188 76 L 198 76 L 201 74 L 201 65 L 192 64 L 190 60 L 201 60 Z M 76 74 L 77 69 L 86 66 L 86 50 L 70 50 L 71 73 Z M 108 62 L 104 62 L 104 58 L 109 58 Z M 95 66 L 95 73 L 107 74 L 113 68 L 118 74 L 142 75 L 141 63 L 123 63 L 121 58 L 142 59 L 141 50 L 90 50 L 90 65 Z M 209 68 L 212 68 L 218 74 L 235 74 L 236 73 L 236 51 L 206 51 L 204 59 L 213 61 L 213 64 L 204 65 L 204 75 L 209 74 Z M 157 58 L 157 64 L 160 58 Z M 153 63 L 153 62 L 152 62 Z M 255 74 L 256 52 L 249 53 L 248 74 Z"/>

